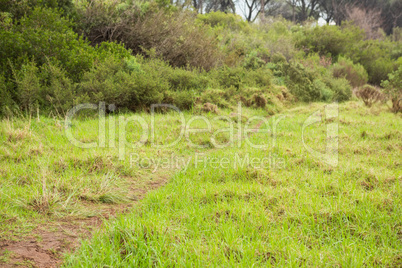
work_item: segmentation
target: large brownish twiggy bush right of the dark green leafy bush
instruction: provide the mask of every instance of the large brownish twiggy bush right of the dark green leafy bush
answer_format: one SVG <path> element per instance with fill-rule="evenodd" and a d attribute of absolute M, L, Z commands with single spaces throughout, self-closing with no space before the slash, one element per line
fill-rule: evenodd
<path fill-rule="evenodd" d="M 156 56 L 173 66 L 209 70 L 221 58 L 216 40 L 192 13 L 160 9 L 154 2 L 93 1 L 82 11 L 79 25 L 93 44 L 122 42 L 135 54 Z"/>

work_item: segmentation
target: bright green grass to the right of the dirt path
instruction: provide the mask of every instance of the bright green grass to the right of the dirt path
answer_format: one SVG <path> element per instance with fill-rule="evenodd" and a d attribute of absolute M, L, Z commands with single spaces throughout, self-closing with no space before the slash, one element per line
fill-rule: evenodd
<path fill-rule="evenodd" d="M 211 159 L 271 153 L 284 167 L 192 162 L 84 241 L 65 266 L 401 266 L 400 116 L 377 106 L 341 105 L 339 165 L 329 167 L 301 143 L 303 122 L 322 108 L 286 112 L 275 148 L 243 144 L 208 152 Z M 309 129 L 307 145 L 322 149 L 325 130 L 323 123 Z M 270 136 L 250 139 L 261 144 Z"/>

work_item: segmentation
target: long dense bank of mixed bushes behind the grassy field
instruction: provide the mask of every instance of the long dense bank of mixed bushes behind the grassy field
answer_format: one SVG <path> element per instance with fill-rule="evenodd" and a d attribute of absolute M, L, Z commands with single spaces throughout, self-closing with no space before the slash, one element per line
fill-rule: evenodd
<path fill-rule="evenodd" d="M 180 109 L 241 101 L 272 112 L 278 100 L 345 101 L 351 86 L 388 78 L 391 94 L 399 77 L 392 72 L 402 63 L 402 44 L 365 40 L 350 23 L 250 24 L 167 0 L 1 3 L 1 114 L 19 107 L 63 115 L 99 101 L 129 110 L 161 101 Z"/>

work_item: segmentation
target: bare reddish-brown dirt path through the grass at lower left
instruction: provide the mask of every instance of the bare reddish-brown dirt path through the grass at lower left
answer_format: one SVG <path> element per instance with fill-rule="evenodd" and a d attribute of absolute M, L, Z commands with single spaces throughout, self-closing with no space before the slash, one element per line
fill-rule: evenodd
<path fill-rule="evenodd" d="M 133 183 L 130 187 L 131 203 L 124 204 L 86 204 L 91 209 L 101 209 L 99 216 L 90 218 L 65 217 L 51 219 L 39 225 L 31 235 L 19 241 L 2 240 L 0 237 L 1 267 L 59 267 L 64 253 L 71 252 L 80 246 L 80 241 L 91 237 L 94 230 L 101 227 L 105 220 L 118 214 L 126 213 L 145 195 L 164 184 L 165 176 L 153 174 L 143 184 Z"/>

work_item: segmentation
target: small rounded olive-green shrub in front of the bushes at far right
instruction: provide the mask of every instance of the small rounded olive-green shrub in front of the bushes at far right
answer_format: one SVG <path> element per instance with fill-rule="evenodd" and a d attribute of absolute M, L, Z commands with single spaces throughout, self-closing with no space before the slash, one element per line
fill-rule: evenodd
<path fill-rule="evenodd" d="M 334 77 L 346 78 L 352 87 L 359 87 L 367 83 L 368 74 L 360 64 L 354 64 L 348 58 L 339 57 L 338 62 L 333 65 Z"/>

